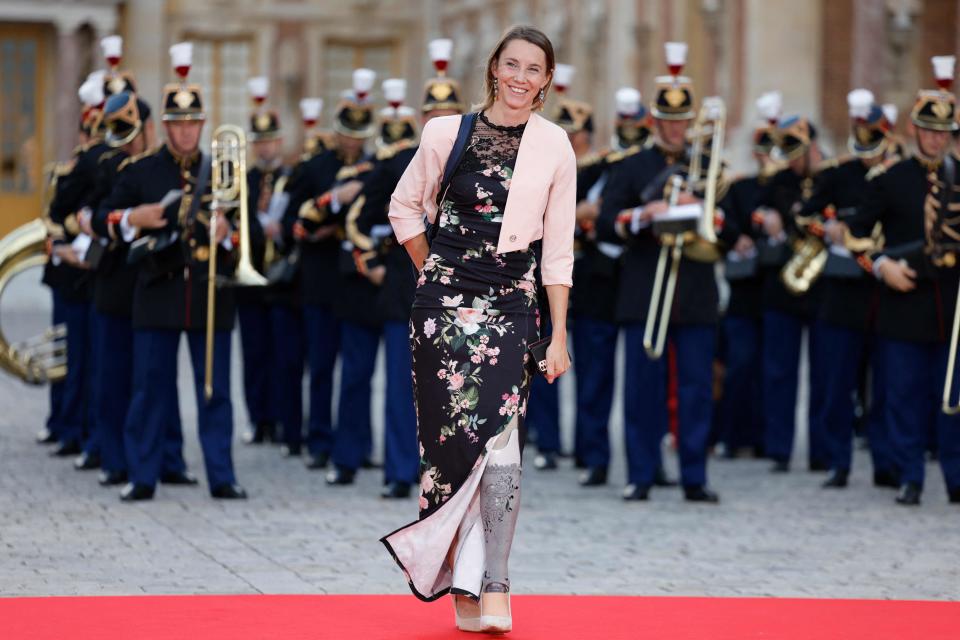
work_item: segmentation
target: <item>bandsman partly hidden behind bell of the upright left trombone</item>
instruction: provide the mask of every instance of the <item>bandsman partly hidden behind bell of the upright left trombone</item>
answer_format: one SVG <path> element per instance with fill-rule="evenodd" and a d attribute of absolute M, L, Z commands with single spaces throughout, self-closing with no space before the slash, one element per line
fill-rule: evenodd
<path fill-rule="evenodd" d="M 252 166 L 247 169 L 247 211 L 251 218 L 250 245 L 254 269 L 265 272 L 266 227 L 274 234 L 279 221 L 267 221 L 270 198 L 274 183 L 284 175 L 280 158 L 280 121 L 277 113 L 263 108 L 269 95 L 269 80 L 266 77 L 251 78 L 247 87 L 254 102 L 250 116 L 249 137 L 251 141 Z M 244 434 L 249 444 L 264 440 L 276 440 L 276 423 L 285 405 L 274 395 L 280 390 L 279 371 L 273 362 L 273 328 L 270 322 L 269 293 L 266 287 L 240 287 L 236 291 L 237 320 L 240 323 L 240 344 L 243 353 L 243 392 L 250 420 L 250 429 Z M 296 334 L 290 340 L 296 340 Z M 297 440 L 299 446 L 299 429 Z"/>

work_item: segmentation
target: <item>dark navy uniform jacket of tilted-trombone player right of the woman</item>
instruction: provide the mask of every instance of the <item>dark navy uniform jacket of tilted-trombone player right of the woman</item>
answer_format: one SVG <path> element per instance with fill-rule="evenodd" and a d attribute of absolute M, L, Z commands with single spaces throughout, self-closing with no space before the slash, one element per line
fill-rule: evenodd
<path fill-rule="evenodd" d="M 601 240 L 616 238 L 614 225 L 617 215 L 624 209 L 662 199 L 662 189 L 649 193 L 647 185 L 661 176 L 668 165 L 677 161 L 685 162 L 653 146 L 619 163 L 611 173 L 610 184 L 604 192 L 597 237 Z M 681 175 L 685 175 L 685 169 L 681 170 Z M 726 210 L 724 201 L 721 200 L 718 206 Z M 728 233 L 725 230 L 721 235 L 725 244 L 730 243 Z M 660 243 L 651 228 L 647 227 L 628 238 L 626 246 L 617 299 L 617 320 L 644 322 L 650 306 Z M 697 262 L 686 257 L 681 259 L 671 322 L 691 325 L 717 322 L 719 293 L 714 273 L 713 263 Z"/>

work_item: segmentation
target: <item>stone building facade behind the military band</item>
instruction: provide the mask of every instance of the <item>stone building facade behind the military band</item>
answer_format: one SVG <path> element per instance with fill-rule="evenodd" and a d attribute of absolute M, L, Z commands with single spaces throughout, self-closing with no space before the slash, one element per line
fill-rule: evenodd
<path fill-rule="evenodd" d="M 122 66 L 151 104 L 173 78 L 167 47 L 192 40 L 191 78 L 205 87 L 214 126 L 245 123 L 246 79 L 269 75 L 293 154 L 299 99 L 323 97 L 329 121 L 354 67 L 407 78 L 408 102 L 419 102 L 434 37 L 454 39 L 450 73 L 478 99 L 483 60 L 514 23 L 544 29 L 558 61 L 577 67 L 570 94 L 595 105 L 598 144 L 610 134 L 615 90 L 648 96 L 664 72 L 663 42 L 686 40 L 699 96 L 726 101 L 734 166 L 746 164 L 764 91 L 780 89 L 785 109 L 810 116 L 842 151 L 850 88 L 905 114 L 930 85 L 929 57 L 960 52 L 960 0 L 2 0 L 0 233 L 36 215 L 42 166 L 68 157 L 76 88 L 103 66 L 104 35 L 124 36 Z"/>

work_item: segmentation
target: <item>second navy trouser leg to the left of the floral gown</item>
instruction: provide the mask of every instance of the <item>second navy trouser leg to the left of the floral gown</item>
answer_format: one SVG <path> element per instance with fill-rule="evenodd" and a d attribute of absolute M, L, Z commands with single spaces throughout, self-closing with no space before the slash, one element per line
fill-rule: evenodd
<path fill-rule="evenodd" d="M 353 322 L 340 325 L 340 401 L 331 459 L 343 469 L 359 469 L 373 448 L 370 382 L 380 333 L 380 329 Z"/>

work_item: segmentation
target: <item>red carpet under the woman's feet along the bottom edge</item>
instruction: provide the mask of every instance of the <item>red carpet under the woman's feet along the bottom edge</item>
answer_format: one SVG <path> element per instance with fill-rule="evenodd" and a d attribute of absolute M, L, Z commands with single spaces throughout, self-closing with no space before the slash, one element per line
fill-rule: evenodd
<path fill-rule="evenodd" d="M 131 596 L 0 599 L 3 640 L 442 640 L 448 599 Z M 485 636 L 480 636 L 485 637 Z M 515 640 L 957 640 L 960 603 L 518 596 Z"/>

